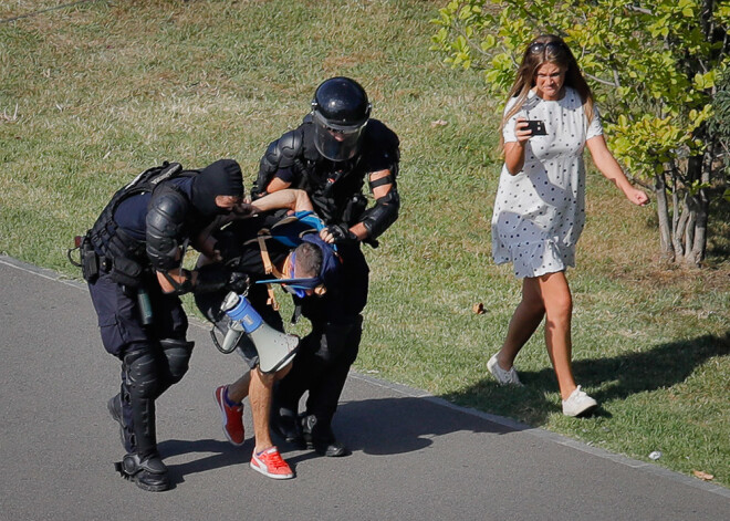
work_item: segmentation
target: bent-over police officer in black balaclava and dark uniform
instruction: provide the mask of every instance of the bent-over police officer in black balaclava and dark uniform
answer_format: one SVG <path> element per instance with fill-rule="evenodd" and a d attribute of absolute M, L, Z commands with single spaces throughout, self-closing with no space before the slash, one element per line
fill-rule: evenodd
<path fill-rule="evenodd" d="M 102 342 L 122 362 L 121 392 L 107 404 L 127 452 L 116 469 L 142 489 L 170 486 L 157 451 L 155 400 L 182 378 L 192 352 L 179 295 L 246 284 L 230 271 L 188 271 L 182 257 L 188 243 L 208 249 L 206 228 L 242 209 L 242 195 L 234 160 L 200 171 L 165 164 L 118 190 L 84 238 L 83 273 Z"/>

